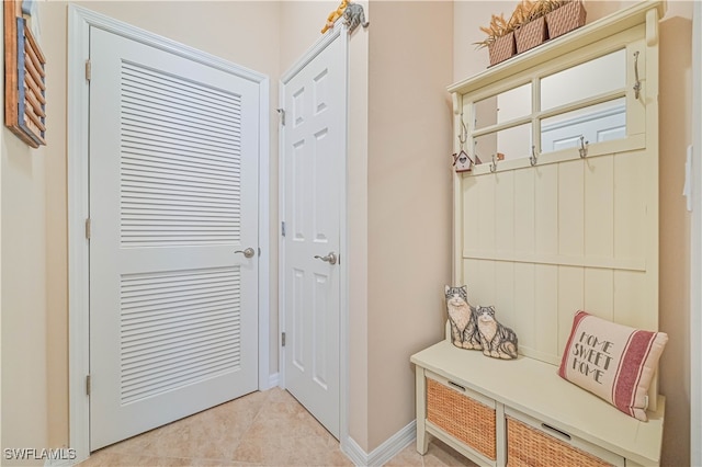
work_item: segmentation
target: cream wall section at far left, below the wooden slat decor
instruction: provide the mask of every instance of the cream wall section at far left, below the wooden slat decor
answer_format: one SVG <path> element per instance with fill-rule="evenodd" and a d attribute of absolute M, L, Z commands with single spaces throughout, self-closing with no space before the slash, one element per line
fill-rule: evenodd
<path fill-rule="evenodd" d="M 4 109 L 4 94 L 0 102 Z M 0 157 L 1 443 L 48 446 L 46 150 L 29 149 L 3 126 Z"/>

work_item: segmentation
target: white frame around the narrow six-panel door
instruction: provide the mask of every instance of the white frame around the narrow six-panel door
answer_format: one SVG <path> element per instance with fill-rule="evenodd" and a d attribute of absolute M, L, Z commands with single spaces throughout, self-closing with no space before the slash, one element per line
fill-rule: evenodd
<path fill-rule="evenodd" d="M 349 34 L 347 26 L 338 21 L 332 30 L 319 37 L 303 56 L 285 71 L 279 82 L 279 111 L 285 107 L 285 84 L 297 75 L 306 65 L 331 44 L 335 39 L 342 41 L 346 62 L 346 109 L 344 144 L 341 167 L 339 173 L 340 206 L 339 206 L 339 443 L 341 451 L 348 452 L 349 424 L 348 424 L 348 394 L 349 394 L 349 262 L 348 262 L 348 156 L 349 156 Z M 284 118 L 284 114 L 283 114 Z M 279 226 L 285 221 L 285 125 L 279 121 Z M 279 230 L 279 331 L 285 332 L 285 241 L 282 230 Z M 280 341 L 279 341 L 280 342 Z M 285 389 L 285 350 L 279 345 L 280 387 Z"/>

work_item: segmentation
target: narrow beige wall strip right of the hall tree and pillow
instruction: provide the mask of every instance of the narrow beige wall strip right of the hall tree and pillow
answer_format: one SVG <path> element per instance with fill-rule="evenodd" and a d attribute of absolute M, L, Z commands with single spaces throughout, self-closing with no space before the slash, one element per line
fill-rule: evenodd
<path fill-rule="evenodd" d="M 663 462 L 690 465 L 690 214 L 682 196 L 692 144 L 692 2 L 671 1 L 660 23 L 660 362 L 667 397 Z M 695 285 L 697 287 L 700 284 Z"/>

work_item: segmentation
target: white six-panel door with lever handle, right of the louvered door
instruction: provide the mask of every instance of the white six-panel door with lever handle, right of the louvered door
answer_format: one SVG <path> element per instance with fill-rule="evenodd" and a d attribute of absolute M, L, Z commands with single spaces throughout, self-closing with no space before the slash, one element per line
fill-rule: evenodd
<path fill-rule="evenodd" d="M 338 36 L 283 82 L 282 93 L 285 387 L 337 438 L 346 47 Z"/>

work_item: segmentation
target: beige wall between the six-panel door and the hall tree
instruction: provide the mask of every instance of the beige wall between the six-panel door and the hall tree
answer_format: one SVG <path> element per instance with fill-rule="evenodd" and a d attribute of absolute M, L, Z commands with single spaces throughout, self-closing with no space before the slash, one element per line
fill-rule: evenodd
<path fill-rule="evenodd" d="M 409 356 L 442 337 L 451 281 L 452 15 L 452 2 L 371 2 L 366 452 L 415 419 Z"/>

